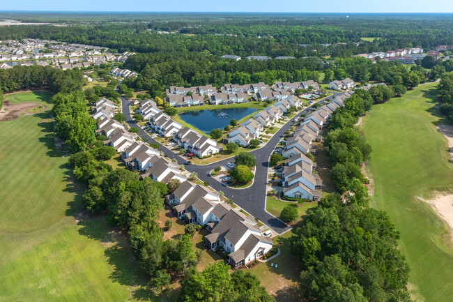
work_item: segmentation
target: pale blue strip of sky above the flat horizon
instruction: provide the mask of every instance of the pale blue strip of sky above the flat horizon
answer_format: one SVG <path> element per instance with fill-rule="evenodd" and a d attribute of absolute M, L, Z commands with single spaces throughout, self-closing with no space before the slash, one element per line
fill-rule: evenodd
<path fill-rule="evenodd" d="M 0 10 L 267 12 L 267 13 L 453 13 L 453 0 L 0 0 Z"/>

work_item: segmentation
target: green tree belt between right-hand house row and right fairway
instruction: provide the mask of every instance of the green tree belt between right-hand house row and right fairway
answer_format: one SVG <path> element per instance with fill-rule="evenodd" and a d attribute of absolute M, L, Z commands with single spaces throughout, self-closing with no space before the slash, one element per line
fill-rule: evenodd
<path fill-rule="evenodd" d="M 399 232 L 387 213 L 369 208 L 363 186 L 369 182 L 359 166 L 369 158 L 371 146 L 354 125 L 372 104 L 381 103 L 382 94 L 390 98 L 395 93 L 387 86 L 356 90 L 330 119 L 324 145 L 339 193 L 309 209 L 290 239 L 302 264 L 304 301 L 410 301 Z"/>

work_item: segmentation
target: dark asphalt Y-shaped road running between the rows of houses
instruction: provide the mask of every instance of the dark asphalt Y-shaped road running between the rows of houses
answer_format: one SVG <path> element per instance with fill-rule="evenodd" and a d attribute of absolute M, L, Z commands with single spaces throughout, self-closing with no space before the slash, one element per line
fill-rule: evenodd
<path fill-rule="evenodd" d="M 334 95 L 323 98 L 317 103 L 323 104 L 325 102 L 328 102 L 337 94 L 339 93 L 334 93 Z M 135 123 L 135 121 L 132 120 L 130 114 L 130 101 L 127 98 L 121 97 L 121 109 L 123 111 L 123 114 L 126 116 L 126 122 L 129 124 L 129 126 L 139 128 L 139 137 L 141 137 L 142 139 L 147 139 L 148 143 L 157 142 L 150 135 L 148 135 L 148 133 L 141 129 L 137 125 L 137 123 Z M 284 232 L 291 229 L 291 227 L 286 225 L 286 223 L 284 223 L 282 220 L 279 220 L 278 218 L 275 218 L 275 216 L 272 216 L 270 213 L 266 212 L 266 186 L 268 180 L 269 157 L 272 154 L 272 151 L 274 151 L 275 146 L 277 146 L 280 139 L 282 139 L 285 131 L 288 131 L 291 126 L 293 126 L 294 119 L 299 117 L 301 114 L 307 114 L 307 110 L 309 109 L 312 109 L 312 107 L 307 107 L 305 110 L 302 110 L 291 120 L 285 123 L 284 126 L 282 126 L 282 128 L 280 128 L 277 133 L 272 136 L 272 138 L 267 142 L 265 146 L 250 152 L 256 158 L 256 171 L 254 183 L 248 188 L 229 188 L 227 186 L 223 186 L 222 183 L 216 181 L 212 176 L 210 176 L 211 170 L 213 170 L 215 167 L 219 167 L 233 161 L 233 158 L 220 160 L 209 165 L 186 165 L 185 169 L 187 169 L 187 171 L 189 172 L 197 172 L 199 179 L 201 179 L 202 181 L 209 181 L 209 185 L 212 188 L 217 191 L 222 190 L 225 193 L 225 196 L 233 199 L 233 202 L 238 204 L 238 206 L 261 220 L 261 222 L 263 222 L 265 225 L 268 225 L 268 227 L 273 229 L 278 234 L 283 234 Z M 183 165 L 187 160 L 174 153 L 166 146 L 162 146 L 162 144 L 160 144 L 158 150 L 163 151 L 169 158 L 176 158 L 179 165 Z"/>

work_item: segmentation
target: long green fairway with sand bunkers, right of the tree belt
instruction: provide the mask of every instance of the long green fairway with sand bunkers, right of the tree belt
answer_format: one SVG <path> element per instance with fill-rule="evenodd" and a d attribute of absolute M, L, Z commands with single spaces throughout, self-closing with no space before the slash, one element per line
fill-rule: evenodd
<path fill-rule="evenodd" d="M 401 251 L 410 266 L 410 289 L 421 301 L 451 301 L 453 250 L 447 225 L 416 196 L 453 188 L 447 142 L 434 123 L 436 84 L 375 105 L 363 128 L 373 148 L 369 172 L 372 205 L 387 211 L 401 232 Z M 448 298 L 450 296 L 450 298 Z"/>

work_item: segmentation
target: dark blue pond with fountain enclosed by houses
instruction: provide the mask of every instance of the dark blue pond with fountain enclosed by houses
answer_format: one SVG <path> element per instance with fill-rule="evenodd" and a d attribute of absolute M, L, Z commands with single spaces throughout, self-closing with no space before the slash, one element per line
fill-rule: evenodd
<path fill-rule="evenodd" d="M 213 129 L 225 128 L 232 119 L 239 121 L 255 111 L 254 108 L 225 108 L 184 112 L 179 117 L 204 133 L 210 133 Z"/>

